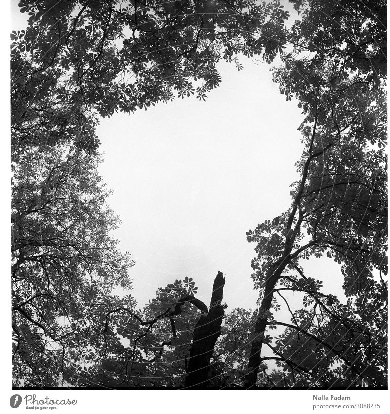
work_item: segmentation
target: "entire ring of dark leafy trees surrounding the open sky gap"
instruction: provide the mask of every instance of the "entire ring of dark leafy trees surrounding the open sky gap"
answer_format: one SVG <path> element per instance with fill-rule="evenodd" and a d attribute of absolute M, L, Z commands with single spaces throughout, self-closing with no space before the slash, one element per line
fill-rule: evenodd
<path fill-rule="evenodd" d="M 293 3 L 287 26 L 276 0 L 20 1 L 14 386 L 386 386 L 386 4 Z M 120 220 L 97 170 L 99 117 L 203 101 L 220 86 L 217 63 L 241 70 L 240 55 L 277 58 L 273 82 L 305 117 L 290 208 L 246 233 L 259 299 L 227 312 L 219 272 L 209 306 L 185 277 L 140 309 L 134 261 L 111 236 Z M 310 257 L 340 265 L 329 277 L 343 277 L 345 303 L 307 274 Z"/>

